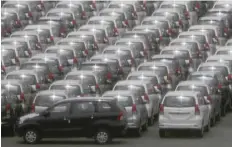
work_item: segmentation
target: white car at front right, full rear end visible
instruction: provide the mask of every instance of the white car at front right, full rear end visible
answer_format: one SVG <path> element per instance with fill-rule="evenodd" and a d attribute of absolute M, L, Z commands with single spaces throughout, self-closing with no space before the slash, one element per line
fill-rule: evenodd
<path fill-rule="evenodd" d="M 165 137 L 167 130 L 186 129 L 203 137 L 210 129 L 209 104 L 200 92 L 168 92 L 160 104 L 159 136 Z"/>

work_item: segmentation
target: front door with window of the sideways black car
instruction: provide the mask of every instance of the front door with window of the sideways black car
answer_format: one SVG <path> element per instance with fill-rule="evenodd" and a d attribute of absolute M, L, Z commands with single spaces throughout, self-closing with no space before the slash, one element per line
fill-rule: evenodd
<path fill-rule="evenodd" d="M 60 103 L 48 108 L 48 115 L 43 116 L 38 122 L 44 135 L 47 137 L 69 136 L 72 132 L 70 127 L 70 103 Z"/>

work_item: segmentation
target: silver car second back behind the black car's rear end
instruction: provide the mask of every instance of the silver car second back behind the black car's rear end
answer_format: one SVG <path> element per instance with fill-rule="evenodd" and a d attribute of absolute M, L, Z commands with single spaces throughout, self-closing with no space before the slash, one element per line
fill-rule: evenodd
<path fill-rule="evenodd" d="M 153 125 L 154 119 L 159 114 L 159 96 L 155 91 L 154 85 L 151 81 L 141 80 L 124 80 L 115 84 L 114 91 L 116 90 L 137 90 L 142 95 L 144 101 L 146 101 L 146 108 L 148 112 L 149 124 Z"/>

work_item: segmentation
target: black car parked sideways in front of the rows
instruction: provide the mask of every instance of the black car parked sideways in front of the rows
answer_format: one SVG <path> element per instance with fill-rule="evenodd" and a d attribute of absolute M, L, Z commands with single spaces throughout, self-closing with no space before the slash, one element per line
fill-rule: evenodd
<path fill-rule="evenodd" d="M 106 144 L 127 130 L 127 116 L 117 101 L 96 97 L 69 98 L 41 113 L 30 113 L 16 122 L 16 133 L 28 144 L 42 138 L 94 137 Z"/>

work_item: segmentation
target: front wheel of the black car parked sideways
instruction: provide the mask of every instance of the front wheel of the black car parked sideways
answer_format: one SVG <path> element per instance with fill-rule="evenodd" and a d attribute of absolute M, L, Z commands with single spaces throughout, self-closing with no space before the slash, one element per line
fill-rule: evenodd
<path fill-rule="evenodd" d="M 36 129 L 26 129 L 23 134 L 23 140 L 27 144 L 36 144 L 40 139 L 41 136 Z"/>

